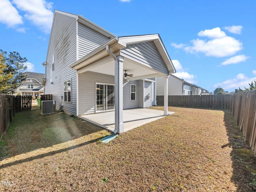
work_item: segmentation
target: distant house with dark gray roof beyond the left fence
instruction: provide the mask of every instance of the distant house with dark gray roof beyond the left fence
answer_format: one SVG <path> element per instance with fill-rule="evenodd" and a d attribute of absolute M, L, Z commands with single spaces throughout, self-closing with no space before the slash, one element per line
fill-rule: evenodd
<path fill-rule="evenodd" d="M 33 97 L 40 97 L 44 94 L 44 86 L 42 86 L 42 79 L 45 77 L 42 73 L 24 72 L 24 79 L 21 85 L 16 89 L 16 95 L 20 93 L 21 96 L 31 95 Z"/>

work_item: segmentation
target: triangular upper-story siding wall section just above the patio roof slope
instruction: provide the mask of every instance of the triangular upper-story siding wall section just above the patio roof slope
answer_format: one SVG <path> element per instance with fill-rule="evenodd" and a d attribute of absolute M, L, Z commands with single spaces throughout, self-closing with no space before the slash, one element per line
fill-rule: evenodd
<path fill-rule="evenodd" d="M 78 23 L 78 59 L 92 52 L 108 40 L 106 36 Z"/>

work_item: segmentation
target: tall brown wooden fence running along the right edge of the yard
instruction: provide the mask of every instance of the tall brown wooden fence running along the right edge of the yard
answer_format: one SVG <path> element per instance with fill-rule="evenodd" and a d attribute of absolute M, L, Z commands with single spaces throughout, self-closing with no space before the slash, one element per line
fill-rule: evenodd
<path fill-rule="evenodd" d="M 231 112 L 236 124 L 244 134 L 256 154 L 256 90 L 236 93 L 233 97 Z"/>

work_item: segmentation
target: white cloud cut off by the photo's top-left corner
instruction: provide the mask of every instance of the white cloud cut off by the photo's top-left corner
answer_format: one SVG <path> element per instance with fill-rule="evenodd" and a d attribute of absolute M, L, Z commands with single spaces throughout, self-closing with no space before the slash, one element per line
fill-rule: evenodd
<path fill-rule="evenodd" d="M 18 10 L 8 0 L 1 0 L 0 22 L 6 24 L 8 27 L 23 24 L 22 16 L 19 15 Z"/>

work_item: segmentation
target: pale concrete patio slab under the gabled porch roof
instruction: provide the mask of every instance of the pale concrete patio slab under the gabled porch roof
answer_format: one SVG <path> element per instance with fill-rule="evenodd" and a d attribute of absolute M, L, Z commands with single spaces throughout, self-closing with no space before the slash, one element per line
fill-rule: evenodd
<path fill-rule="evenodd" d="M 173 114 L 174 112 L 168 112 Z M 153 110 L 147 108 L 128 109 L 123 111 L 124 132 L 132 130 L 136 127 L 150 123 L 164 117 L 164 111 Z M 88 114 L 79 116 L 92 124 L 96 124 L 102 128 L 114 131 L 115 128 L 115 112 L 102 112 L 96 114 Z"/>

